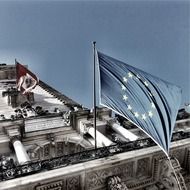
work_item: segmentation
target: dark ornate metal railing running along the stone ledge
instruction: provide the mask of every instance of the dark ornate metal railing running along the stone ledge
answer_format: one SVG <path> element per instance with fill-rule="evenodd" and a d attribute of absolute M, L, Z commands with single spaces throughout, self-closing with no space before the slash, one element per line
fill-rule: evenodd
<path fill-rule="evenodd" d="M 190 138 L 190 132 L 176 132 L 173 134 L 172 141 Z M 87 162 L 99 158 L 113 156 L 118 153 L 152 147 L 156 144 L 150 138 L 136 140 L 133 142 L 119 143 L 108 147 L 86 150 L 83 152 L 55 157 L 47 160 L 29 162 L 24 165 L 8 165 L 1 168 L 0 181 L 18 178 L 34 173 L 48 171 L 56 168 L 66 167 L 73 164 Z"/>

